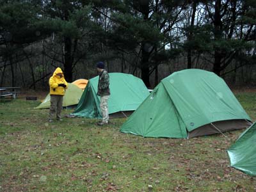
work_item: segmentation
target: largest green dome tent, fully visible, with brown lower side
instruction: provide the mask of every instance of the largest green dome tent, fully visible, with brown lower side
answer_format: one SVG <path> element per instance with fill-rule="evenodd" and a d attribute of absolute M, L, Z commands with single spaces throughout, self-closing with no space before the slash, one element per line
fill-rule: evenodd
<path fill-rule="evenodd" d="M 191 138 L 250 126 L 223 79 L 188 69 L 164 78 L 120 131 L 145 137 Z"/>

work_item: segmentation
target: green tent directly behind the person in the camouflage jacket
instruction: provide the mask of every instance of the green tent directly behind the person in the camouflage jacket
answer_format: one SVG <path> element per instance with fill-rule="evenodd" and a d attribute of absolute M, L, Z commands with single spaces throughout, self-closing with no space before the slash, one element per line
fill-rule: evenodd
<path fill-rule="evenodd" d="M 89 80 L 84 93 L 72 115 L 86 118 L 101 118 L 100 97 L 97 96 L 99 76 Z M 116 113 L 128 114 L 134 111 L 149 95 L 143 81 L 131 74 L 109 73 L 109 89 L 111 95 L 108 100 L 109 115 Z"/>

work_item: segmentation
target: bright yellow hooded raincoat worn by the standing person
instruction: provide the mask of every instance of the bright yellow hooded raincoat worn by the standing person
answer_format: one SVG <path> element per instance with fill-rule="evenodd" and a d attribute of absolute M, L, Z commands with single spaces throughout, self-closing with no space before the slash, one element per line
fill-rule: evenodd
<path fill-rule="evenodd" d="M 57 74 L 62 74 L 62 77 L 57 76 Z M 63 88 L 59 86 L 59 84 L 65 84 L 66 87 Z M 60 67 L 56 68 L 53 75 L 49 79 L 49 86 L 50 86 L 50 95 L 65 95 L 65 90 L 68 88 L 68 83 L 63 76 L 63 72 Z"/>

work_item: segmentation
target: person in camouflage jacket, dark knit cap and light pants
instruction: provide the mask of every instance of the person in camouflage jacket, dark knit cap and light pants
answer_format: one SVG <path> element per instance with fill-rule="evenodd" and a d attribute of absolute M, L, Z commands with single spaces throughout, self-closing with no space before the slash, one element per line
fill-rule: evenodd
<path fill-rule="evenodd" d="M 99 72 L 99 83 L 98 83 L 98 92 L 97 95 L 100 96 L 100 111 L 102 113 L 102 122 L 99 122 L 98 125 L 108 124 L 109 115 L 108 115 L 108 99 L 110 95 L 109 90 L 109 75 L 108 72 L 104 69 L 104 63 L 97 63 L 97 70 Z"/>

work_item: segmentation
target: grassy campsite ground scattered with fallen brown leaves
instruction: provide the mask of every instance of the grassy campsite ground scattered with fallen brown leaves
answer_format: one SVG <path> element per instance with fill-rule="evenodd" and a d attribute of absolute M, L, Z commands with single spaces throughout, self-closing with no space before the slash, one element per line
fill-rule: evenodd
<path fill-rule="evenodd" d="M 236 96 L 254 121 L 256 93 Z M 125 118 L 48 124 L 38 104 L 0 102 L 0 191 L 256 191 L 256 178 L 231 168 L 226 152 L 244 130 L 142 138 L 119 132 Z"/>

